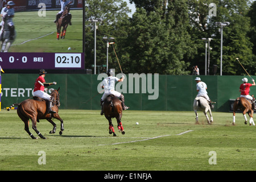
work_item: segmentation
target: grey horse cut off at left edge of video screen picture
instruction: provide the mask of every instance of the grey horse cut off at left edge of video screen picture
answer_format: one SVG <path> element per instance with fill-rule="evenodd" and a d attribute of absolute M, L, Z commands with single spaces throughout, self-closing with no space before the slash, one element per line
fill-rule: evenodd
<path fill-rule="evenodd" d="M 10 40 L 10 30 L 7 23 L 8 20 L 5 20 L 2 24 L 2 28 L 0 30 L 0 48 L 1 52 L 8 52 L 11 44 L 13 44 L 14 39 L 16 37 L 16 32 L 14 31 L 13 40 Z"/>

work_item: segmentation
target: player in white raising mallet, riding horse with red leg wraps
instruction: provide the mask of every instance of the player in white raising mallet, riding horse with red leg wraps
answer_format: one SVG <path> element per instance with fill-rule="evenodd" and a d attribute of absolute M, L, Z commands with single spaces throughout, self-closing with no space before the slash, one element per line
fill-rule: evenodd
<path fill-rule="evenodd" d="M 125 79 L 125 76 L 122 75 L 122 78 L 117 78 L 117 77 L 113 77 L 113 71 L 111 69 L 108 70 L 107 72 L 108 77 L 106 77 L 102 82 L 101 82 L 101 88 L 104 89 L 104 94 L 101 97 L 101 106 L 105 100 L 106 97 L 108 97 L 110 94 L 113 94 L 115 97 L 119 97 L 119 100 L 121 100 L 122 102 L 122 107 L 123 110 L 129 109 L 130 107 L 127 107 L 125 105 L 125 97 L 123 96 L 123 94 L 115 91 L 115 82 L 120 82 L 123 81 L 123 79 Z M 102 110 L 101 107 L 101 115 L 104 114 L 104 111 Z"/>

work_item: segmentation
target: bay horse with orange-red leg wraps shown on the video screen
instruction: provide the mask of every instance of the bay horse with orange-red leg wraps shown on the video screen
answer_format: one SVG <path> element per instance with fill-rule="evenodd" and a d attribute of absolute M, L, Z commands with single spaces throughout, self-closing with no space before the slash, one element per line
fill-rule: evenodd
<path fill-rule="evenodd" d="M 65 38 L 65 34 L 66 34 L 66 30 L 68 28 L 68 24 L 71 22 L 71 17 L 72 15 L 69 14 L 70 11 L 70 7 L 69 5 L 66 6 L 65 10 L 63 11 L 62 15 L 60 16 L 60 18 L 57 20 L 56 22 L 56 26 L 57 26 L 57 40 L 64 39 Z M 61 31 L 61 27 L 62 31 Z M 60 35 L 60 31 L 61 31 L 61 35 Z"/>

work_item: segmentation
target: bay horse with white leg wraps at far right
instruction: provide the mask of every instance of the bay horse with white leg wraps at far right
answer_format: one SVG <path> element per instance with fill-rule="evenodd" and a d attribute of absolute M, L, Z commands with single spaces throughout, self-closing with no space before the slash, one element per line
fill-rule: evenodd
<path fill-rule="evenodd" d="M 232 125 L 235 125 L 236 123 L 236 111 L 240 109 L 243 113 L 243 117 L 245 118 L 245 125 L 247 125 L 247 117 L 246 113 L 248 113 L 250 117 L 250 126 L 253 124 L 255 126 L 254 121 L 253 121 L 253 105 L 252 103 L 247 100 L 245 97 L 238 97 L 236 101 L 234 101 L 233 105 L 233 123 Z"/>

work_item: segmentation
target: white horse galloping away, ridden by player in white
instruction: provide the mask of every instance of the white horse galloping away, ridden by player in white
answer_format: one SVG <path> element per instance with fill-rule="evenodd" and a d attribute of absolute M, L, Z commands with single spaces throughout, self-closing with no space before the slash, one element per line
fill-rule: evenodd
<path fill-rule="evenodd" d="M 198 122 L 198 114 L 197 110 L 203 111 L 205 117 L 207 118 L 207 122 L 209 124 L 212 124 L 213 117 L 212 117 L 212 110 L 210 110 L 210 105 L 208 104 L 208 101 L 204 97 L 196 97 L 193 103 L 193 110 L 196 113 L 196 121 Z M 209 111 L 210 119 L 207 115 L 207 112 Z"/>

